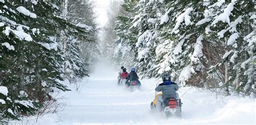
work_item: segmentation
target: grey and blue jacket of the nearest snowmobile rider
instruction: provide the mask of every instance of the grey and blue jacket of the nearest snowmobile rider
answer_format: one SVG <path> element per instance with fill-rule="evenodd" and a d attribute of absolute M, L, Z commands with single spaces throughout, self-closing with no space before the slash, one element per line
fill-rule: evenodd
<path fill-rule="evenodd" d="M 163 101 L 167 102 L 170 98 L 174 98 L 177 99 L 177 93 L 176 91 L 178 91 L 179 86 L 172 82 L 172 81 L 167 81 L 167 82 L 163 82 L 162 84 L 158 85 L 156 87 L 156 91 L 160 92 L 162 91 L 163 95 Z"/>

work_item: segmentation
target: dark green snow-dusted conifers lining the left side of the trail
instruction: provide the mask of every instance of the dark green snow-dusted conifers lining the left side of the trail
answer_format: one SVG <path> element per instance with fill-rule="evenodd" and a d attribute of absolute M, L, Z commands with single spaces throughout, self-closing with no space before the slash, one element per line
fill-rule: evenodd
<path fill-rule="evenodd" d="M 91 42 L 93 28 L 66 20 L 63 5 L 0 1 L 1 123 L 35 114 L 53 92 L 69 91 L 64 79 L 87 75 L 79 42 Z"/>

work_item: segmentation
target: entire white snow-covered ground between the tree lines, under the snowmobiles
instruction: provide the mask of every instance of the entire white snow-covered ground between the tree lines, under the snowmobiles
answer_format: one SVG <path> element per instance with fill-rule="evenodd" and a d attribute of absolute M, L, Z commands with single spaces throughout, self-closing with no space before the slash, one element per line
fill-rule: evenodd
<path fill-rule="evenodd" d="M 117 86 L 117 72 L 98 65 L 78 93 L 65 93 L 68 102 L 58 119 L 45 116 L 36 124 L 254 124 L 255 101 L 237 96 L 224 97 L 193 87 L 179 89 L 182 117 L 166 119 L 150 113 L 150 102 L 159 80 L 142 80 L 140 91 Z M 225 105 L 226 103 L 226 105 Z"/>

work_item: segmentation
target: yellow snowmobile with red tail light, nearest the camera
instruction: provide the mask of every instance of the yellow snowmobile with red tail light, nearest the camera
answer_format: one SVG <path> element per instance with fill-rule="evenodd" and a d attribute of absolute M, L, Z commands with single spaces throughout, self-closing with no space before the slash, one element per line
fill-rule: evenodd
<path fill-rule="evenodd" d="M 156 112 L 156 102 L 157 102 L 157 96 L 161 95 L 162 93 L 155 93 L 155 98 L 150 104 L 151 112 Z M 170 98 L 166 103 L 161 104 L 161 110 L 160 112 L 164 112 L 165 116 L 167 118 L 176 116 L 181 117 L 181 99 L 173 99 Z"/>

